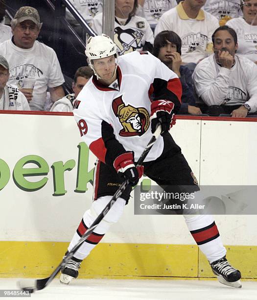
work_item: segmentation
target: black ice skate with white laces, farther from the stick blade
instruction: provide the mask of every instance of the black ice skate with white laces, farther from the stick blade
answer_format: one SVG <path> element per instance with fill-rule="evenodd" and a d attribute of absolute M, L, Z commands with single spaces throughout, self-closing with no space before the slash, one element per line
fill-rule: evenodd
<path fill-rule="evenodd" d="M 231 264 L 227 261 L 226 256 L 219 260 L 214 261 L 210 264 L 211 270 L 220 283 L 232 286 L 235 288 L 241 288 L 242 284 L 240 281 L 241 273 L 237 269 L 234 269 Z"/>

